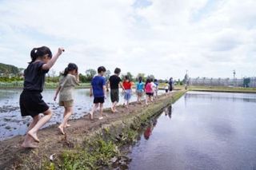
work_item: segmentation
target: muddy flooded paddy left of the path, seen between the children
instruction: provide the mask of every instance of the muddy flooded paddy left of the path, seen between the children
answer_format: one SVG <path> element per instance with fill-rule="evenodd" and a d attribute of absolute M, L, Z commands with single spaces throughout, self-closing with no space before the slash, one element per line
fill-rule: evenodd
<path fill-rule="evenodd" d="M 22 93 L 21 89 L 0 89 L 0 140 L 26 133 L 31 117 L 21 117 L 18 103 L 20 93 Z M 46 89 L 42 93 L 43 100 L 54 112 L 53 117 L 45 127 L 62 121 L 64 109 L 58 106 L 58 102 L 54 101 L 54 93 L 54 89 Z M 159 90 L 159 94 L 161 93 L 164 93 L 164 91 Z M 93 97 L 90 97 L 90 89 L 75 89 L 74 99 L 74 114 L 71 119 L 78 119 L 90 111 L 93 105 Z M 136 101 L 136 99 L 136 95 L 133 93 L 131 101 Z M 123 95 L 120 93 L 119 104 L 122 104 L 122 101 Z M 104 107 L 109 108 L 110 105 L 110 97 L 107 97 Z"/>

